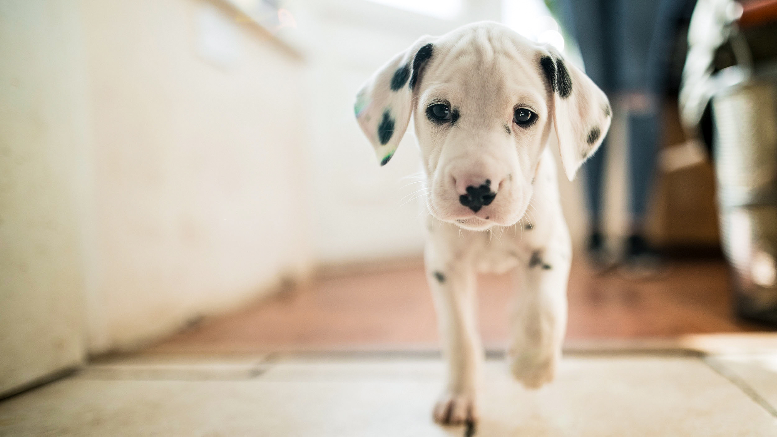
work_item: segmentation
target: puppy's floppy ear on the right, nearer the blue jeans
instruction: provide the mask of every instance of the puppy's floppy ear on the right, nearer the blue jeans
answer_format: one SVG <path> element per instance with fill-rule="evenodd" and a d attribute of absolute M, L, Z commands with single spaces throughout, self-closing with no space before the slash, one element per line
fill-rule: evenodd
<path fill-rule="evenodd" d="M 561 163 L 571 181 L 610 128 L 610 102 L 594 81 L 559 54 L 542 52 L 539 64 L 553 92 L 553 125 Z"/>

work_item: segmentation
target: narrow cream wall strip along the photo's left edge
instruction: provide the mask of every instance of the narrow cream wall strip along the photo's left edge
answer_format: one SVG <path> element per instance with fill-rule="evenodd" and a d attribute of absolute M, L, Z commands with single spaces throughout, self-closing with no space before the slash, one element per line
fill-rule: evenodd
<path fill-rule="evenodd" d="M 85 355 L 79 16 L 0 2 L 0 397 Z"/>

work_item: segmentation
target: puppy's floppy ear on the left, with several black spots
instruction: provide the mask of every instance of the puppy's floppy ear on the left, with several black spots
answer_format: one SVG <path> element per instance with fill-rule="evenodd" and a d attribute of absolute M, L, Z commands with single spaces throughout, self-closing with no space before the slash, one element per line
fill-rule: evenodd
<path fill-rule="evenodd" d="M 394 154 L 413 113 L 413 90 L 434 55 L 431 36 L 423 36 L 383 65 L 356 95 L 354 113 L 381 165 Z"/>

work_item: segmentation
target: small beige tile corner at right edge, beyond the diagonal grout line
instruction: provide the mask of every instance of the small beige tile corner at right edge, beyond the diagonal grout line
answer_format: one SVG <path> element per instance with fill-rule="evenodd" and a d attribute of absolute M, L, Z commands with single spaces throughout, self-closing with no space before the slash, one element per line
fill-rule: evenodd
<path fill-rule="evenodd" d="M 721 373 L 753 390 L 757 401 L 765 402 L 777 414 L 777 352 L 723 355 L 708 359 Z"/>

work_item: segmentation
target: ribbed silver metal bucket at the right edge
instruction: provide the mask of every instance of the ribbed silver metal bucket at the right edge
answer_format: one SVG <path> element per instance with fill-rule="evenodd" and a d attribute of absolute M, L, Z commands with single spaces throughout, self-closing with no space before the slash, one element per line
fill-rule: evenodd
<path fill-rule="evenodd" d="M 715 168 L 737 313 L 777 324 L 777 78 L 716 92 Z"/>

